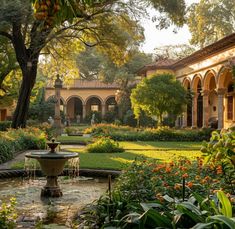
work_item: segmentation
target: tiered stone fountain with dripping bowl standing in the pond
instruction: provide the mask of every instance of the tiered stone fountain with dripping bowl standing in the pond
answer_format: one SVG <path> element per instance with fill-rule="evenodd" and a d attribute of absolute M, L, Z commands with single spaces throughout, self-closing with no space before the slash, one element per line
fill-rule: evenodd
<path fill-rule="evenodd" d="M 41 197 L 60 197 L 63 195 L 58 185 L 58 176 L 63 172 L 66 161 L 76 158 L 77 153 L 56 152 L 56 147 L 60 142 L 47 142 L 50 151 L 29 152 L 25 154 L 27 158 L 33 158 L 40 163 L 43 173 L 46 175 L 47 183 L 41 190 Z"/>

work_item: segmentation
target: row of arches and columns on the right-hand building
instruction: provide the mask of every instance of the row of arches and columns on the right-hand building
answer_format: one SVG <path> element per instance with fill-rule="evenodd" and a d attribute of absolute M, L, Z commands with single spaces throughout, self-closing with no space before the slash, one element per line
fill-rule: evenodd
<path fill-rule="evenodd" d="M 188 90 L 189 102 L 181 117 L 182 127 L 228 128 L 235 122 L 234 79 L 231 68 L 185 76 L 182 85 Z"/>

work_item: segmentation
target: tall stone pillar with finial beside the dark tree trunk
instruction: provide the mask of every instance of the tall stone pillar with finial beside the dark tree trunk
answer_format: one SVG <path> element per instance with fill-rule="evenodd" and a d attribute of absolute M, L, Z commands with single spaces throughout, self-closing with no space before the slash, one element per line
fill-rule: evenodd
<path fill-rule="evenodd" d="M 61 117 L 60 117 L 60 90 L 63 87 L 63 82 L 60 79 L 59 75 L 56 76 L 55 80 L 55 98 L 56 98 L 56 103 L 55 103 L 55 127 L 58 129 L 61 128 Z"/>

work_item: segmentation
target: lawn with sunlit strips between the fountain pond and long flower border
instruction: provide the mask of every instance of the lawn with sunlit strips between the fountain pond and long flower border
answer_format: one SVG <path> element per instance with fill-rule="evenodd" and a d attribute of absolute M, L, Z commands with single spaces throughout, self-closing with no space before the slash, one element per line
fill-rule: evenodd
<path fill-rule="evenodd" d="M 190 160 L 201 156 L 199 142 L 120 142 L 127 149 L 123 153 L 87 153 L 84 149 L 68 148 L 80 154 L 81 168 L 124 169 L 135 159 L 155 159 L 168 162 L 179 157 Z M 66 150 L 66 147 L 65 147 Z"/>

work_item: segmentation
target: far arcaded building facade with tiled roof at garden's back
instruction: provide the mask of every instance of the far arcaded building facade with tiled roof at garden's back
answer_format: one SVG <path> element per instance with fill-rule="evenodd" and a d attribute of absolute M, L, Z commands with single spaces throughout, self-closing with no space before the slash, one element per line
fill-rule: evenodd
<path fill-rule="evenodd" d="M 104 117 L 107 111 L 114 110 L 117 105 L 117 90 L 117 84 L 105 84 L 98 80 L 74 80 L 73 85 L 64 85 L 60 90 L 61 110 L 71 120 L 79 117 L 80 122 L 92 111 L 100 112 Z M 48 86 L 45 99 L 53 99 L 54 96 L 55 88 Z"/>

